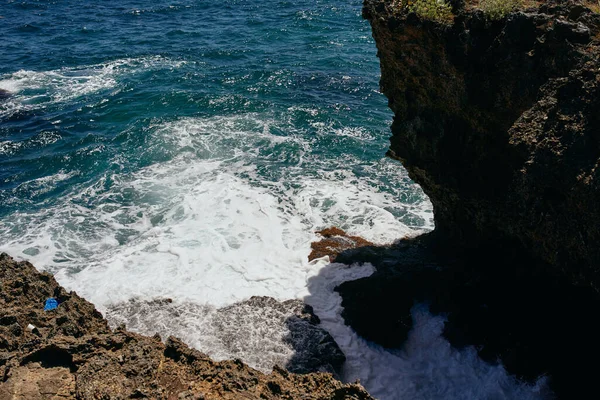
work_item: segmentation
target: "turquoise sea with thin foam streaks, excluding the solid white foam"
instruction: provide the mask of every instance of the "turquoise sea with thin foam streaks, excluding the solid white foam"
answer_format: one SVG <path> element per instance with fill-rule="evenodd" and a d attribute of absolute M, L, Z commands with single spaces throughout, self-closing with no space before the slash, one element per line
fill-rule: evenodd
<path fill-rule="evenodd" d="M 0 102 L 5 242 L 65 203 L 95 217 L 61 219 L 49 240 L 98 240 L 98 219 L 115 219 L 115 208 L 164 200 L 117 187 L 123 179 L 182 158 L 219 162 L 254 187 L 277 182 L 288 191 L 275 194 L 280 202 L 306 179 L 353 179 L 385 194 L 382 211 L 402 224 L 430 224 L 421 192 L 383 158 L 391 114 L 358 1 L 26 1 L 3 3 L 0 15 L 0 89 L 10 94 Z M 360 231 L 373 225 L 363 217 L 317 225 Z M 128 227 L 139 218 L 118 221 L 120 245 L 139 233 Z"/>

